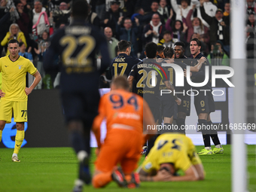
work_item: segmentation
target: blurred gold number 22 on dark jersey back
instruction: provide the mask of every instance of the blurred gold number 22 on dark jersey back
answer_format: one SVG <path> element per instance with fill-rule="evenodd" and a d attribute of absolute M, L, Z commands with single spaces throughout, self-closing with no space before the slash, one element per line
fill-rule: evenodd
<path fill-rule="evenodd" d="M 88 66 L 92 62 L 87 59 L 90 53 L 93 51 L 96 42 L 94 38 L 91 36 L 80 36 L 79 38 L 75 38 L 72 35 L 64 36 L 60 39 L 59 43 L 62 46 L 66 46 L 63 54 L 62 54 L 62 61 L 66 66 Z M 75 55 L 75 50 L 77 49 L 78 45 L 83 45 L 84 47 Z"/>

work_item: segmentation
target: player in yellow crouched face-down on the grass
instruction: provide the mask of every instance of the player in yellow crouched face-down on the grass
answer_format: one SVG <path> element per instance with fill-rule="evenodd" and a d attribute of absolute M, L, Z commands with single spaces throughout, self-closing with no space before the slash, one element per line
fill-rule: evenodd
<path fill-rule="evenodd" d="M 181 169 L 184 175 L 177 175 Z M 191 139 L 164 133 L 139 168 L 140 181 L 197 181 L 204 179 L 203 164 Z"/>

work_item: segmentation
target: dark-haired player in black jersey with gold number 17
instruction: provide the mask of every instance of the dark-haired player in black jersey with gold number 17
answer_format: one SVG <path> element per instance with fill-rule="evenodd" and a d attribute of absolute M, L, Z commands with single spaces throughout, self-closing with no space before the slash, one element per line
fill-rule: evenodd
<path fill-rule="evenodd" d="M 118 42 L 117 46 L 120 53 L 111 62 L 111 76 L 112 78 L 117 77 L 117 75 L 126 75 L 126 77 L 128 77 L 133 66 L 142 60 L 130 56 L 130 41 L 121 40 Z"/>

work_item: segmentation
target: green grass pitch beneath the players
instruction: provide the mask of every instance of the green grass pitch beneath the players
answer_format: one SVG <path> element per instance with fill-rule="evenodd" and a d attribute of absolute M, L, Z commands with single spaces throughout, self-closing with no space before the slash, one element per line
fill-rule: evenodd
<path fill-rule="evenodd" d="M 231 151 L 230 145 L 224 145 L 224 154 L 201 156 L 206 170 L 204 181 L 182 182 L 142 182 L 141 187 L 133 191 L 231 191 Z M 255 168 L 255 145 L 247 145 L 248 149 L 248 188 L 254 184 L 256 175 Z M 203 146 L 197 146 L 197 151 Z M 0 149 L 0 191 L 1 192 L 51 192 L 72 191 L 77 176 L 77 160 L 72 148 L 22 148 L 20 150 L 20 163 L 11 161 L 13 149 Z M 110 154 L 111 155 L 111 154 Z M 93 171 L 93 156 L 91 169 Z M 142 163 L 144 157 L 140 160 Z M 254 177 L 254 178 L 253 178 Z M 251 185 L 250 185 L 251 184 Z M 111 182 L 107 187 L 99 191 L 125 191 Z M 251 191 L 256 190 L 252 189 Z M 84 191 L 96 191 L 91 185 L 85 186 Z"/>

